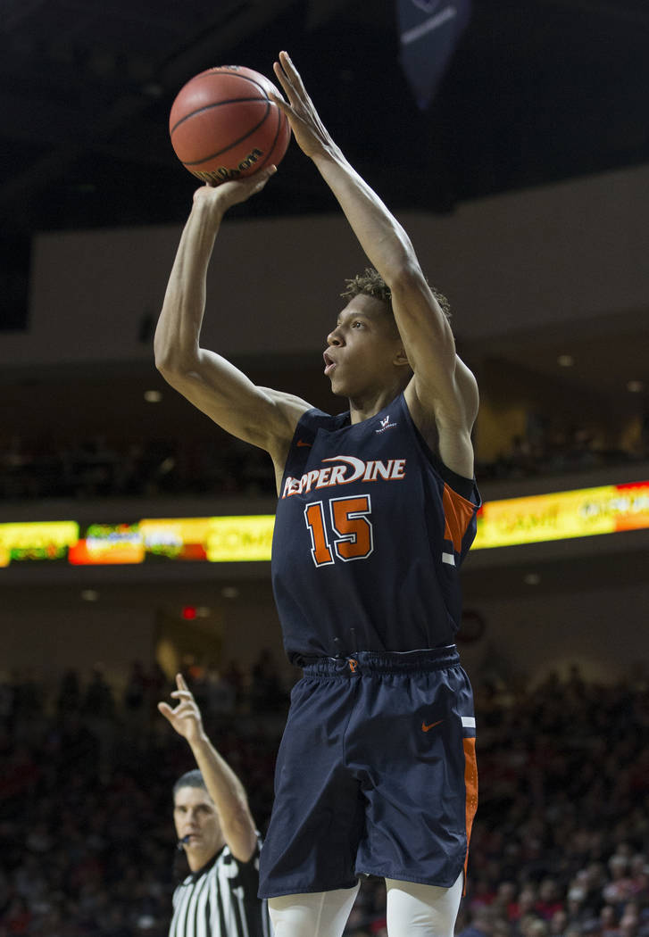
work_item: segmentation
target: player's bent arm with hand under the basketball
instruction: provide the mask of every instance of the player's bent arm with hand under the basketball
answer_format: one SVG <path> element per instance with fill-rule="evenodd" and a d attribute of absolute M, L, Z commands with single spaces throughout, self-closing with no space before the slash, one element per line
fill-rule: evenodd
<path fill-rule="evenodd" d="M 239 439 L 271 454 L 280 473 L 294 427 L 309 404 L 257 387 L 233 364 L 200 345 L 205 280 L 223 215 L 261 191 L 270 170 L 194 194 L 158 320 L 156 366 L 180 394 Z M 221 312 L 227 325 L 227 310 Z"/>

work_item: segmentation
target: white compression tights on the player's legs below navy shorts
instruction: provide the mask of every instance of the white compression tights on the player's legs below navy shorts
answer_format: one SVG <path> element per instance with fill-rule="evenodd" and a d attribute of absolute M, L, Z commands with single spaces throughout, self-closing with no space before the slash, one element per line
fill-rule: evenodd
<path fill-rule="evenodd" d="M 385 879 L 389 937 L 453 937 L 463 875 L 450 888 Z M 340 937 L 358 885 L 268 900 L 275 937 Z"/>

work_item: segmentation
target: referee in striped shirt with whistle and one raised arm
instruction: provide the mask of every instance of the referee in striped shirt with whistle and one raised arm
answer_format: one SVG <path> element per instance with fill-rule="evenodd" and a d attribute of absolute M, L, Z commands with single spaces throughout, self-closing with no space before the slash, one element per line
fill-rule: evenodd
<path fill-rule="evenodd" d="M 158 709 L 188 740 L 199 770 L 174 784 L 175 832 L 190 873 L 174 891 L 169 937 L 269 937 L 266 902 L 257 898 L 261 843 L 246 791 L 205 735 L 182 675 L 175 681 L 177 705 Z"/>

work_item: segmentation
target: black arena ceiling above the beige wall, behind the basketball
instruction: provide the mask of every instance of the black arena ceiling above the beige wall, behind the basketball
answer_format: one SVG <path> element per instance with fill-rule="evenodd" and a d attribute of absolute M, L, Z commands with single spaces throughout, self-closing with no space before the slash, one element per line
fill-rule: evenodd
<path fill-rule="evenodd" d="M 3 239 L 184 217 L 192 180 L 167 131 L 175 93 L 213 65 L 271 75 L 281 48 L 343 149 L 400 208 L 448 211 L 649 159 L 647 0 L 474 0 L 425 113 L 401 71 L 395 8 L 395 0 L 3 0 Z M 330 207 L 293 146 L 272 191 L 249 211 Z"/>

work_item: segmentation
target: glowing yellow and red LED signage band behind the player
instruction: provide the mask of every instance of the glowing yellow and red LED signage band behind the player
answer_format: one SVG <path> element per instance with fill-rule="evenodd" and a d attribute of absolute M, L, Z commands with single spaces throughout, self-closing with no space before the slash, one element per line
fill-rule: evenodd
<path fill-rule="evenodd" d="M 24 561 L 72 566 L 210 563 L 270 559 L 273 514 L 145 518 L 117 524 L 0 524 L 0 567 Z M 529 498 L 486 501 L 474 549 L 566 540 L 649 528 L 649 482 L 611 484 Z"/>

